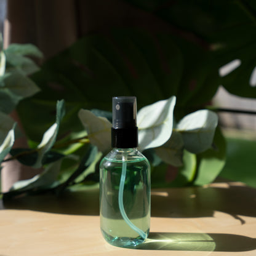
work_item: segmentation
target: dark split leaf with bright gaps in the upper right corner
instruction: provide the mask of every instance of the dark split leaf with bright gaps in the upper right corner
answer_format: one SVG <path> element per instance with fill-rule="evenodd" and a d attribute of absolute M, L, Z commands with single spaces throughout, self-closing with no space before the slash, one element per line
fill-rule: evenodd
<path fill-rule="evenodd" d="M 202 54 L 196 48 L 186 51 L 190 45 L 182 50 L 186 52 L 185 63 L 190 63 L 191 69 L 185 67 L 189 73 L 186 72 L 183 78 L 189 79 L 189 83 L 185 82 L 180 88 L 189 90 L 194 87 L 196 92 L 186 95 L 188 99 L 193 95 L 186 104 L 199 104 L 203 98 L 212 97 L 217 88 L 216 83 L 223 84 L 231 94 L 256 97 L 255 82 L 250 82 L 256 72 L 255 1 L 126 1 L 154 12 L 154 15 L 169 24 L 172 33 L 177 34 L 178 38 L 185 38 L 186 42 L 193 41 L 204 48 Z M 204 57 L 208 60 L 201 62 Z M 241 65 L 220 78 L 217 69 L 233 60 L 241 61 Z M 200 95 L 202 92 L 203 97 Z"/>

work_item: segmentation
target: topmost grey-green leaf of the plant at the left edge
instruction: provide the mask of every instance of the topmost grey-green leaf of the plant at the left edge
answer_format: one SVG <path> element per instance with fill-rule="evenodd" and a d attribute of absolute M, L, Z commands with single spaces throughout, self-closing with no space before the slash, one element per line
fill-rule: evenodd
<path fill-rule="evenodd" d="M 30 56 L 36 58 L 42 58 L 42 52 L 38 49 L 38 47 L 33 44 L 10 44 L 5 50 L 6 54 L 14 54 L 21 56 Z"/>

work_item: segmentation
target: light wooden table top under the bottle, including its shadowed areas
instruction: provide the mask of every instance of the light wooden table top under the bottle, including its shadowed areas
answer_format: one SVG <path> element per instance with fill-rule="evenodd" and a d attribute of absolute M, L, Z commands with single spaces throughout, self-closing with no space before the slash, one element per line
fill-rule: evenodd
<path fill-rule="evenodd" d="M 138 249 L 107 244 L 98 188 L 1 202 L 0 256 L 256 255 L 256 190 L 241 183 L 152 190 L 151 233 Z"/>

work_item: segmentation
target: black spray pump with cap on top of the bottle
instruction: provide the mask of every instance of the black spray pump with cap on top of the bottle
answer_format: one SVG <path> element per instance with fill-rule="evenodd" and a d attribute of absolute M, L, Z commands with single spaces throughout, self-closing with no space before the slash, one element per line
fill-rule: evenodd
<path fill-rule="evenodd" d="M 113 148 L 137 148 L 137 102 L 136 97 L 113 97 Z"/>

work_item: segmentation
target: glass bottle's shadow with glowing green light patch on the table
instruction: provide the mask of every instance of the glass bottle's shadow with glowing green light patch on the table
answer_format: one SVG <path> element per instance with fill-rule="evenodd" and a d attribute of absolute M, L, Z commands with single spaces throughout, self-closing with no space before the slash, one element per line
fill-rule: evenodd
<path fill-rule="evenodd" d="M 256 249 L 256 239 L 236 234 L 218 233 L 150 233 L 142 250 L 191 250 L 245 252 Z"/>

